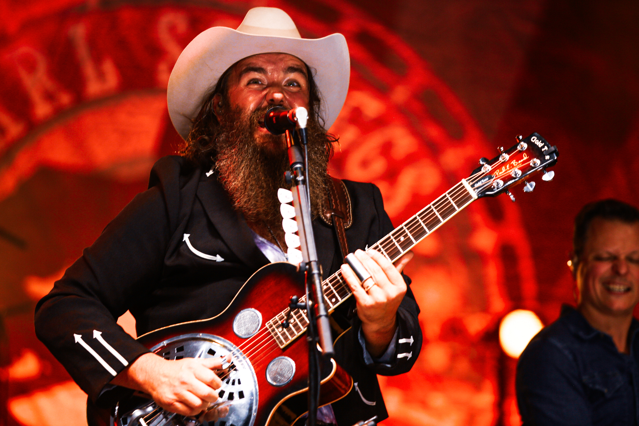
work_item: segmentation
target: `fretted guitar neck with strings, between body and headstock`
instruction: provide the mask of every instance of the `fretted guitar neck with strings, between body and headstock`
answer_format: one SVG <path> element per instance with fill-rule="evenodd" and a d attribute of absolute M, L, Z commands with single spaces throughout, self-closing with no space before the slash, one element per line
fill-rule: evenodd
<path fill-rule="evenodd" d="M 371 247 L 367 247 L 366 251 L 376 250 L 390 262 L 394 262 L 475 199 L 477 199 L 477 194 L 468 185 L 466 179 L 461 179 L 457 185 L 421 209 L 416 215 L 396 227 Z M 326 278 L 322 284 L 328 312 L 335 310 L 352 294 L 341 271 Z M 304 333 L 309 324 L 305 312 L 296 309 L 289 316 L 289 327 L 282 327 L 282 321 L 286 319 L 288 312 L 289 309 L 286 308 L 266 323 L 266 328 L 280 347 L 286 346 L 298 335 Z"/>

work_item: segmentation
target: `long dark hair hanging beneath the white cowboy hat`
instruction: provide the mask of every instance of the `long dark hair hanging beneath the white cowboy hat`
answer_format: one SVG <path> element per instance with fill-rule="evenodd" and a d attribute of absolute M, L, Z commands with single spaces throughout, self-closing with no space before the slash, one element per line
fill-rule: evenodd
<path fill-rule="evenodd" d="M 193 120 L 189 136 L 178 151 L 180 155 L 190 158 L 190 160 L 203 165 L 203 167 L 210 167 L 210 165 L 215 162 L 215 156 L 217 155 L 217 151 L 215 150 L 215 140 L 217 139 L 220 123 L 215 116 L 213 98 L 215 98 L 215 95 L 219 94 L 221 96 L 220 106 L 222 109 L 230 107 L 227 96 L 228 80 L 231 75 L 231 71 L 236 65 L 237 62 L 229 66 L 229 68 L 222 73 L 220 78 L 217 80 L 215 87 L 213 87 L 212 90 L 204 96 L 204 102 L 202 103 L 202 107 L 196 118 Z M 339 142 L 339 138 L 325 131 L 325 120 L 319 115 L 319 110 L 321 110 L 321 94 L 315 84 L 313 70 L 305 63 L 304 65 L 306 66 L 309 84 L 309 118 L 311 120 L 315 120 L 316 123 L 318 123 L 319 128 L 323 130 L 326 137 L 325 146 L 328 158 L 330 158 L 333 156 L 333 143 Z"/>

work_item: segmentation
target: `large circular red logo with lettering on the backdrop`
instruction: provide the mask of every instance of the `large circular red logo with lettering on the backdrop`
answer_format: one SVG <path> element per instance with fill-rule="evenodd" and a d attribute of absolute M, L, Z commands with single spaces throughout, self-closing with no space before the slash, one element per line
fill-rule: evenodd
<path fill-rule="evenodd" d="M 13 305 L 47 290 L 53 278 L 46 278 L 146 188 L 151 164 L 180 142 L 166 84 L 181 50 L 208 27 L 237 27 L 254 5 L 59 3 L 20 16 L 0 52 L 0 227 L 14 239 L 1 266 L 10 277 L 2 292 Z M 379 186 L 396 225 L 497 153 L 427 63 L 364 11 L 337 0 L 305 11 L 266 5 L 288 11 L 305 38 L 346 36 L 350 91 L 330 129 L 340 137 L 330 171 Z M 424 347 L 410 373 L 380 377 L 385 424 L 492 424 L 501 392 L 497 322 L 537 291 L 520 212 L 505 197 L 479 200 L 415 252 L 406 271 Z M 35 337 L 23 345 L 49 356 Z M 20 348 L 12 353 L 19 357 Z M 64 379 L 59 369 L 54 363 L 22 385 L 14 406 Z M 35 425 L 16 410 L 19 422 Z"/>

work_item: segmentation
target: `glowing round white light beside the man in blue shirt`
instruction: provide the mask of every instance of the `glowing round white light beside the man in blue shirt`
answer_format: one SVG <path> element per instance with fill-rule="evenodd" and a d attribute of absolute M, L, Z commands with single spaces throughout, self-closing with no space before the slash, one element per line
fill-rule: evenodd
<path fill-rule="evenodd" d="M 519 358 L 530 339 L 539 333 L 543 326 L 532 310 L 513 310 L 499 325 L 499 343 L 508 356 Z"/>

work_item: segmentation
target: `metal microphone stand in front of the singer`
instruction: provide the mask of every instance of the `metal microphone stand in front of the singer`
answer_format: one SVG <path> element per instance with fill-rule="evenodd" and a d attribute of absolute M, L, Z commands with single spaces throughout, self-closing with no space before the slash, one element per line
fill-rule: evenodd
<path fill-rule="evenodd" d="M 322 289 L 322 271 L 318 261 L 315 238 L 311 220 L 311 197 L 308 178 L 308 156 L 302 155 L 302 146 L 305 154 L 308 154 L 306 139 L 306 110 L 297 109 L 297 135 L 292 135 L 286 130 L 286 146 L 288 146 L 288 158 L 291 164 L 291 183 L 293 192 L 293 206 L 300 236 L 300 249 L 303 262 L 300 268 L 305 271 L 306 312 L 309 317 L 307 328 L 307 342 L 309 345 L 309 415 L 308 426 L 317 423 L 317 410 L 319 405 L 319 346 L 323 356 L 330 359 L 334 356 L 333 342 L 328 322 L 328 311 L 324 304 L 324 291 Z M 295 137 L 297 136 L 297 137 Z M 297 139 L 297 141 L 295 140 Z M 311 288 L 312 287 L 312 291 Z M 314 294 L 313 294 L 314 293 Z M 313 319 L 316 321 L 314 322 Z"/>

